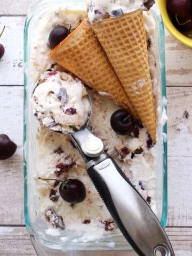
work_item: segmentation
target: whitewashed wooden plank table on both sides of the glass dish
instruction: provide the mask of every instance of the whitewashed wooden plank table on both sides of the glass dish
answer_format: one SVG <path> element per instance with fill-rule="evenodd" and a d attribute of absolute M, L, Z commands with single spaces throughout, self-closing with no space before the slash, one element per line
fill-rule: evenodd
<path fill-rule="evenodd" d="M 23 26 L 29 0 L 1 0 L 0 133 L 18 145 L 0 161 L 0 255 L 36 255 L 23 218 Z M 192 256 L 192 49 L 165 31 L 168 123 L 166 232 L 176 256 Z M 188 113 L 188 114 L 187 114 Z M 133 252 L 128 255 L 135 255 Z M 112 255 L 113 256 L 113 255 Z"/>

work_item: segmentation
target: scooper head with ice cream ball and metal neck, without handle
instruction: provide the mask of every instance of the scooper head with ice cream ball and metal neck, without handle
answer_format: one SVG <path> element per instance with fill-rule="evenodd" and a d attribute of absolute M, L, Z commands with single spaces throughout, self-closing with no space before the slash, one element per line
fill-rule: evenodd
<path fill-rule="evenodd" d="M 31 103 L 39 123 L 50 131 L 68 134 L 85 162 L 103 152 L 102 140 L 89 130 L 92 104 L 78 78 L 46 71 L 38 79 Z"/>

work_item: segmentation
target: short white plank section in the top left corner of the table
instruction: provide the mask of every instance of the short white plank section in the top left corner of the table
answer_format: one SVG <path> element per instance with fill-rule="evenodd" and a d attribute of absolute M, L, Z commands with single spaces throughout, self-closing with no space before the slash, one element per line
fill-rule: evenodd
<path fill-rule="evenodd" d="M 31 0 L 1 0 L 0 15 L 26 15 Z"/>

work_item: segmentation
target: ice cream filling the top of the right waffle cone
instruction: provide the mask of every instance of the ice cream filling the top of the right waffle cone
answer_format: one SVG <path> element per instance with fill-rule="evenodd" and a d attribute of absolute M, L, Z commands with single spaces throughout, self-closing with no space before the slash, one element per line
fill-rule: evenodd
<path fill-rule="evenodd" d="M 88 17 L 91 23 L 139 9 L 145 9 L 143 0 L 87 0 Z"/>

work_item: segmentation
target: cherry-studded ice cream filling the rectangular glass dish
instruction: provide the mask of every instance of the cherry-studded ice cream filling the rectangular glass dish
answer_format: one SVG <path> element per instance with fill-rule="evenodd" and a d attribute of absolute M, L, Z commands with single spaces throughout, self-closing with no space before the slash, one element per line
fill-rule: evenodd
<path fill-rule="evenodd" d="M 55 13 L 57 13 L 57 15 L 55 15 Z M 63 13 L 65 13 L 64 21 Z M 38 78 L 38 80 L 40 78 L 37 88 L 40 86 L 39 89 L 42 88 L 42 92 L 44 92 L 45 89 L 46 92 L 49 92 L 50 87 L 54 84 L 55 91 L 53 91 L 54 93 L 52 96 L 58 95 L 58 90 L 62 87 L 62 84 L 65 83 L 65 79 L 62 81 L 59 77 L 61 77 L 61 74 L 66 74 L 64 73 L 66 70 L 55 65 L 48 57 L 51 49 L 47 46 L 47 38 L 55 25 L 62 24 L 68 26 L 69 24 L 67 21 L 69 20 L 69 17 L 74 29 L 75 25 L 76 27 L 79 25 L 79 22 L 77 22 L 77 13 L 78 21 L 79 19 L 86 18 L 83 11 L 82 14 L 81 12 L 75 13 L 74 11 L 71 13 L 69 9 L 67 9 L 67 11 L 59 9 L 47 13 L 39 23 L 34 37 L 33 50 L 31 51 L 30 56 L 31 79 L 33 79 L 33 82 L 35 83 L 36 78 Z M 160 84 L 158 79 L 158 63 L 156 62 L 155 55 L 156 27 L 154 18 L 150 13 L 143 13 L 143 15 L 145 15 L 147 31 L 146 40 L 149 44 L 149 68 L 151 73 L 151 83 L 155 94 L 157 126 L 160 127 L 161 109 L 158 108 Z M 39 40 L 39 37 L 41 37 L 41 40 Z M 47 69 L 49 70 L 46 71 Z M 49 73 L 55 75 L 46 78 L 46 81 L 43 79 L 41 82 L 42 77 L 40 74 L 42 73 L 44 74 L 43 77 L 47 76 Z M 52 81 L 52 79 L 57 78 L 57 76 L 60 81 L 59 83 Z M 70 78 L 69 74 L 66 76 Z M 49 83 L 51 83 L 51 85 L 49 85 Z M 76 81 L 75 79 L 73 80 L 73 83 L 75 83 L 75 86 L 80 84 L 83 88 L 80 81 Z M 63 88 L 68 91 L 69 84 L 67 83 L 67 87 L 65 87 L 65 85 L 63 86 Z M 39 94 L 37 93 L 39 99 L 42 97 L 40 91 Z M 88 88 L 87 92 L 90 94 L 93 104 L 92 118 L 89 123 L 90 130 L 102 139 L 105 144 L 106 153 L 115 159 L 123 172 L 125 172 L 126 176 L 129 177 L 131 182 L 138 189 L 139 193 L 148 202 L 151 209 L 157 213 L 157 181 L 155 177 L 155 169 L 158 157 L 157 150 L 161 141 L 157 140 L 157 143 L 154 146 L 146 128 L 143 127 L 140 122 L 137 122 L 137 125 L 135 125 L 135 129 L 131 134 L 117 134 L 110 126 L 110 117 L 114 111 L 119 109 L 119 106 L 115 102 L 107 99 L 105 93 L 103 95 L 103 93 L 99 93 L 91 88 Z M 44 100 L 41 100 L 41 102 L 42 101 Z M 54 96 L 53 101 L 51 101 L 53 102 L 53 105 L 55 104 L 55 101 L 57 103 L 59 102 L 59 104 L 62 103 L 62 99 L 59 101 L 59 99 Z M 66 101 L 66 97 L 63 98 L 63 101 Z M 86 111 L 84 111 L 84 113 L 86 113 Z M 82 124 L 79 124 L 79 126 L 81 125 Z M 47 223 L 47 233 L 55 234 L 54 231 L 51 231 L 53 228 L 57 228 L 60 233 L 67 231 L 67 234 L 69 234 L 70 231 L 81 230 L 84 235 L 88 233 L 89 235 L 86 236 L 86 239 L 84 239 L 85 237 L 79 239 L 87 241 L 93 239 L 93 234 L 95 239 L 95 237 L 98 238 L 117 230 L 114 220 L 111 218 L 105 204 L 102 202 L 85 170 L 83 158 L 75 149 L 68 135 L 47 131 L 45 127 L 39 126 L 37 131 L 37 141 L 38 158 L 36 161 L 38 164 L 37 168 L 33 170 L 33 179 L 35 181 L 34 194 L 37 195 L 38 207 L 35 207 L 33 211 L 35 212 L 36 218 L 40 217 Z M 70 204 L 63 201 L 59 194 L 59 183 L 57 181 L 39 180 L 38 177 L 59 180 L 76 178 L 81 180 L 86 188 L 86 198 L 79 204 Z M 98 236 L 95 234 L 98 234 Z M 67 236 L 65 238 L 67 239 Z"/>

